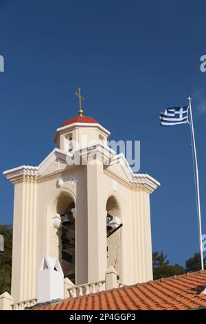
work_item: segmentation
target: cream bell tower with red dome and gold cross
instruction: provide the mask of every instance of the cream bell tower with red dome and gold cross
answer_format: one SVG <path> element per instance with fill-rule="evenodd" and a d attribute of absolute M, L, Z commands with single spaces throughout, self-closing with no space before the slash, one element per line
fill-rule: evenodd
<path fill-rule="evenodd" d="M 40 165 L 3 172 L 14 184 L 15 301 L 36 298 L 45 255 L 74 285 L 104 280 L 111 265 L 126 285 L 152 279 L 150 194 L 159 183 L 108 147 L 110 132 L 83 116 L 77 95 L 79 116 L 57 128 Z"/>

